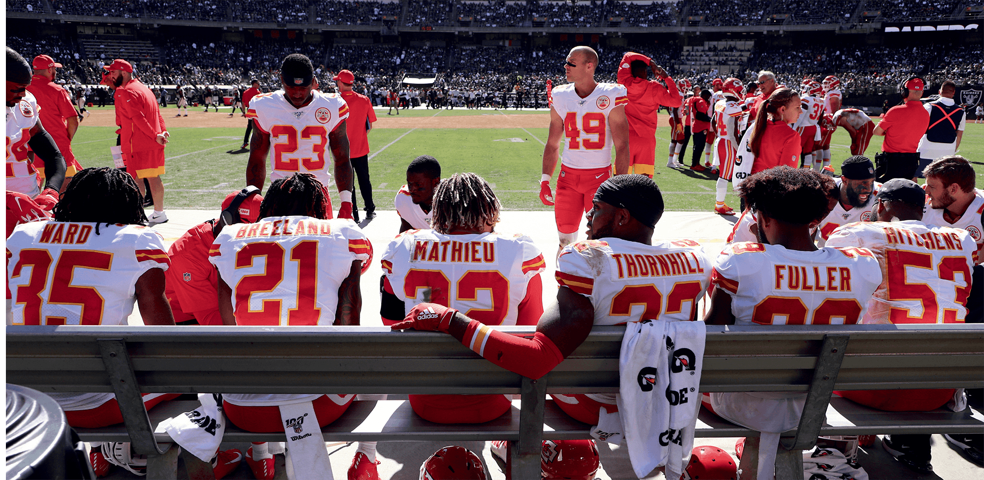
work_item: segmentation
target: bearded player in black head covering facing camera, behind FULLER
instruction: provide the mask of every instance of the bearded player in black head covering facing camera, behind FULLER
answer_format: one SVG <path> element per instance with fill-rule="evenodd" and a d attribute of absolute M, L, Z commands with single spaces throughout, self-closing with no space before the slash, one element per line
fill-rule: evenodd
<path fill-rule="evenodd" d="M 871 221 L 872 199 L 882 184 L 875 181 L 875 165 L 864 155 L 847 157 L 840 164 L 840 178 L 835 180 L 840 198 L 833 210 L 820 222 L 817 245 L 823 247 L 838 226 L 855 221 Z"/>

